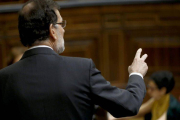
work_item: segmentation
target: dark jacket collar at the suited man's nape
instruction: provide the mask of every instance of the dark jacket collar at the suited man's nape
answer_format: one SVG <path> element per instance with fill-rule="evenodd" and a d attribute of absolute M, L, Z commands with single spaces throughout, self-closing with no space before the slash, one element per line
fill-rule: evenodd
<path fill-rule="evenodd" d="M 55 54 L 55 55 L 58 55 L 54 50 L 52 50 L 50 48 L 47 48 L 47 47 L 38 47 L 38 48 L 27 50 L 23 54 L 21 60 L 26 58 L 26 57 L 29 57 L 29 56 L 32 56 L 32 55 L 37 55 L 37 54 Z"/>

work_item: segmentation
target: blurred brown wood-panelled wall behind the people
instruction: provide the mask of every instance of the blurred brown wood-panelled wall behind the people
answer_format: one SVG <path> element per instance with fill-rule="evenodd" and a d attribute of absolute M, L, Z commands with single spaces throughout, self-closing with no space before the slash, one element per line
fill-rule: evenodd
<path fill-rule="evenodd" d="M 0 0 L 0 69 L 26 50 L 19 39 L 18 11 L 27 0 Z M 136 50 L 149 70 L 174 74 L 180 101 L 180 2 L 178 0 L 58 0 L 67 21 L 64 56 L 92 58 L 112 85 L 125 88 Z M 14 52 L 15 51 L 15 52 Z M 16 56 L 17 55 L 17 56 Z M 146 95 L 144 101 L 149 96 Z M 100 113 L 101 114 L 101 113 Z M 104 114 L 102 113 L 102 116 Z"/>

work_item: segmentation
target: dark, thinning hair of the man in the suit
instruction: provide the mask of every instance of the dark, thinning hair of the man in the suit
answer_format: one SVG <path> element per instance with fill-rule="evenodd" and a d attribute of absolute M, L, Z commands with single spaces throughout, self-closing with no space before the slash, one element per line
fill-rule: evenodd
<path fill-rule="evenodd" d="M 24 9 L 28 5 L 28 9 Z M 49 37 L 50 24 L 55 25 L 59 6 L 53 0 L 29 0 L 19 11 L 18 29 L 21 43 L 32 46 L 35 41 L 43 41 Z"/>

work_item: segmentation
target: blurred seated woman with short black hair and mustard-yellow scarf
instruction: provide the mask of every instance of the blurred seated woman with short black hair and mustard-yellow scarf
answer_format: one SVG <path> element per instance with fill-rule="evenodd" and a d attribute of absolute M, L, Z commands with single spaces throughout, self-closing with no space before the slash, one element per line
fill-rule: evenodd
<path fill-rule="evenodd" d="M 172 73 L 168 71 L 153 73 L 147 86 L 147 92 L 152 98 L 141 106 L 136 116 L 118 120 L 138 117 L 144 117 L 145 120 L 180 120 L 180 103 L 170 94 L 174 85 Z M 110 120 L 115 120 L 110 117 Z"/>

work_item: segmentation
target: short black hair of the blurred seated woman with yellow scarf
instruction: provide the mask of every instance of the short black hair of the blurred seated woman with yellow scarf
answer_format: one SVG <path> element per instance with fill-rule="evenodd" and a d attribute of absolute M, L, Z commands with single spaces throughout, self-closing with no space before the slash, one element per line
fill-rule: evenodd
<path fill-rule="evenodd" d="M 159 89 L 165 87 L 166 94 L 169 93 L 175 85 L 173 74 L 169 71 L 157 71 L 150 76 Z"/>

